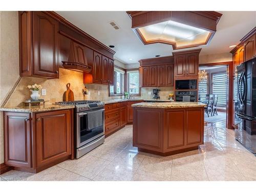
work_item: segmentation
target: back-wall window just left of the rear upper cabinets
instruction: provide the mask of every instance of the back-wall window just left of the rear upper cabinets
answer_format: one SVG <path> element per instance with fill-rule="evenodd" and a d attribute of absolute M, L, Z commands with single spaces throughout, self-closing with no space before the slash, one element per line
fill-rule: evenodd
<path fill-rule="evenodd" d="M 139 71 L 127 71 L 127 92 L 139 95 Z"/>

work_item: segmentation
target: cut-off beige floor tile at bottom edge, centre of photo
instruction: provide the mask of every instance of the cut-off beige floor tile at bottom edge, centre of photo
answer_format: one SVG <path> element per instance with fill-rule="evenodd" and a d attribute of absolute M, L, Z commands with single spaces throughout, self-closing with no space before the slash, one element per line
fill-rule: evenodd
<path fill-rule="evenodd" d="M 163 177 L 138 169 L 133 177 L 133 181 L 169 181 L 169 177 Z"/>

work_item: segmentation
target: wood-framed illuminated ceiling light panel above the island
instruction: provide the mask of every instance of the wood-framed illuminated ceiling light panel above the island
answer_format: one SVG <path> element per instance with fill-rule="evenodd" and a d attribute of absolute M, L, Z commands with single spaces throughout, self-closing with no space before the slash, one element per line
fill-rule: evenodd
<path fill-rule="evenodd" d="M 215 11 L 126 11 L 144 45 L 163 43 L 173 49 L 207 45 L 217 31 Z"/>

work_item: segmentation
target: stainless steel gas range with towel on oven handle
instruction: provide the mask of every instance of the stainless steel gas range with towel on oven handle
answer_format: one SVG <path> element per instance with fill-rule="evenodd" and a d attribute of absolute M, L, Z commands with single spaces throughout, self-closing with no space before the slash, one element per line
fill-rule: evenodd
<path fill-rule="evenodd" d="M 100 101 L 63 101 L 56 104 L 75 105 L 76 158 L 104 142 L 104 103 Z"/>

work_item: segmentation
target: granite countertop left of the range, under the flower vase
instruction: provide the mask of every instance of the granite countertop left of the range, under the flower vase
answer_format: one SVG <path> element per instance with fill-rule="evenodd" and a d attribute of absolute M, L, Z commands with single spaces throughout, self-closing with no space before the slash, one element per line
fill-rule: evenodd
<path fill-rule="evenodd" d="M 44 112 L 44 111 L 54 111 L 54 110 L 65 110 L 73 109 L 74 105 L 57 105 L 57 104 L 46 104 L 44 105 L 35 105 L 29 108 L 29 106 L 10 106 L 0 108 L 0 111 L 9 111 L 9 112 L 23 112 L 23 113 L 34 113 L 34 112 Z"/>

